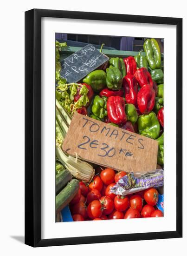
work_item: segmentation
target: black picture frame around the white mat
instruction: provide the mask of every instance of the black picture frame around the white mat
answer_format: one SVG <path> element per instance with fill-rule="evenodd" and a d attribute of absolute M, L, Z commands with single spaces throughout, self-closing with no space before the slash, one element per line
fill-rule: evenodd
<path fill-rule="evenodd" d="M 177 27 L 176 230 L 106 236 L 41 239 L 41 18 L 168 24 Z M 33 247 L 182 237 L 182 19 L 32 9 L 25 12 L 25 243 Z"/>

